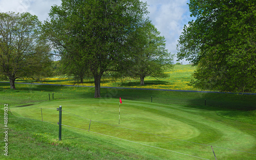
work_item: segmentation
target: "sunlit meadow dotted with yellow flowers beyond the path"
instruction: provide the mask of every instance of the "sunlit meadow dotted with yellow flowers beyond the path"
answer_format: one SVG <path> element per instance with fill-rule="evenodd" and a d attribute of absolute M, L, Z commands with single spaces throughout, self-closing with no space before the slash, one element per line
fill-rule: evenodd
<path fill-rule="evenodd" d="M 192 74 L 196 67 L 191 65 L 175 65 L 173 69 L 167 70 L 165 73 L 169 75 L 167 78 L 156 79 L 154 77 L 145 77 L 145 85 L 141 86 L 139 79 L 121 78 L 113 79 L 110 75 L 105 75 L 101 79 L 101 86 L 103 87 L 131 87 L 131 88 L 153 88 L 153 89 L 179 89 L 179 90 L 198 90 L 187 84 L 192 78 Z M 27 80 L 28 82 L 34 82 Z M 26 82 L 23 79 L 18 79 L 17 82 Z M 53 77 L 46 78 L 40 83 L 45 84 L 63 84 L 74 85 L 75 81 L 67 77 Z M 94 86 L 93 79 L 84 79 L 82 84 L 84 86 Z"/>

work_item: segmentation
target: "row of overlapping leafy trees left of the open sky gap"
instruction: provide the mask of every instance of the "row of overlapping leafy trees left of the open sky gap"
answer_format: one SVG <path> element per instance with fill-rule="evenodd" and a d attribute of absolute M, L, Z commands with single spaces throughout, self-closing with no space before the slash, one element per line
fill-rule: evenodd
<path fill-rule="evenodd" d="M 49 77 L 54 67 L 80 83 L 93 77 L 98 98 L 105 73 L 139 78 L 141 85 L 146 76 L 166 77 L 173 55 L 147 13 L 139 0 L 62 0 L 44 24 L 30 13 L 0 13 L 0 78 L 15 89 L 15 79 Z"/>

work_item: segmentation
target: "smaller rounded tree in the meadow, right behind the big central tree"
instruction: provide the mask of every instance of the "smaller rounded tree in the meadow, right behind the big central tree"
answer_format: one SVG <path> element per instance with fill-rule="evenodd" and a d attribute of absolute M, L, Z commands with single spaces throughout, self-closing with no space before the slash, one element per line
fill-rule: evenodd
<path fill-rule="evenodd" d="M 132 53 L 126 58 L 125 75 L 140 79 L 144 85 L 144 78 L 151 76 L 164 78 L 166 68 L 172 68 L 173 55 L 165 48 L 165 38 L 151 21 L 146 20 L 140 28 L 130 35 L 130 50 Z"/>

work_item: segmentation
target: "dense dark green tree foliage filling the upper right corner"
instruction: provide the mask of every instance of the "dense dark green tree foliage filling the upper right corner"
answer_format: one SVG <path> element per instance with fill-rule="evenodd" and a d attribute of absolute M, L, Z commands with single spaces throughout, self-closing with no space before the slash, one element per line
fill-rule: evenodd
<path fill-rule="evenodd" d="M 190 21 L 178 58 L 197 66 L 192 85 L 230 92 L 256 91 L 256 2 L 190 0 Z"/>

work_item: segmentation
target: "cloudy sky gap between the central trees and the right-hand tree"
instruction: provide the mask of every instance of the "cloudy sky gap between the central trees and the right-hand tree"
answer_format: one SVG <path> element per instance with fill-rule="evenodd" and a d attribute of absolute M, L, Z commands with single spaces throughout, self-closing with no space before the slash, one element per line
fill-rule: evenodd
<path fill-rule="evenodd" d="M 179 36 L 183 31 L 184 25 L 191 20 L 188 10 L 188 0 L 142 0 L 148 6 L 148 15 L 152 23 L 166 39 L 166 48 L 172 54 L 177 53 Z M 175 63 L 176 63 L 175 58 Z M 188 63 L 187 61 L 181 61 Z"/>

